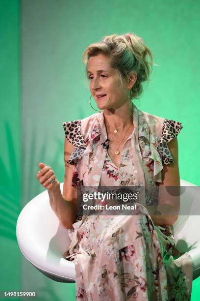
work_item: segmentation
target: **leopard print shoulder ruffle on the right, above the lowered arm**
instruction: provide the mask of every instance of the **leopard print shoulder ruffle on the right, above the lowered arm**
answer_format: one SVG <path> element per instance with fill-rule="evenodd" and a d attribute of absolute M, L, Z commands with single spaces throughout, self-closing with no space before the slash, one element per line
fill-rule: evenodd
<path fill-rule="evenodd" d="M 162 136 L 160 142 L 158 144 L 158 152 L 162 159 L 163 164 L 172 164 L 174 162 L 174 158 L 168 148 L 167 143 L 174 139 L 182 129 L 181 122 L 164 119 L 163 128 L 162 128 Z"/>

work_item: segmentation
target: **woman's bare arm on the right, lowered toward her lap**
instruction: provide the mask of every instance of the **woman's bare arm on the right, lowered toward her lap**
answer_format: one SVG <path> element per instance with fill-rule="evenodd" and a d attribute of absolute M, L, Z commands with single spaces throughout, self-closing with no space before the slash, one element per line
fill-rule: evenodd
<path fill-rule="evenodd" d="M 180 189 L 180 176 L 178 169 L 178 142 L 174 138 L 168 143 L 168 148 L 174 158 L 174 163 L 165 165 L 163 164 L 162 170 L 162 183 L 159 184 L 159 205 L 157 211 L 165 212 L 165 215 L 150 215 L 155 225 L 173 225 L 178 218 L 180 210 L 180 194 L 177 192 Z M 177 186 L 175 188 L 176 195 L 169 194 L 169 189 L 165 186 Z M 172 190 L 172 189 L 171 189 Z M 173 192 L 173 191 L 171 191 Z"/>

